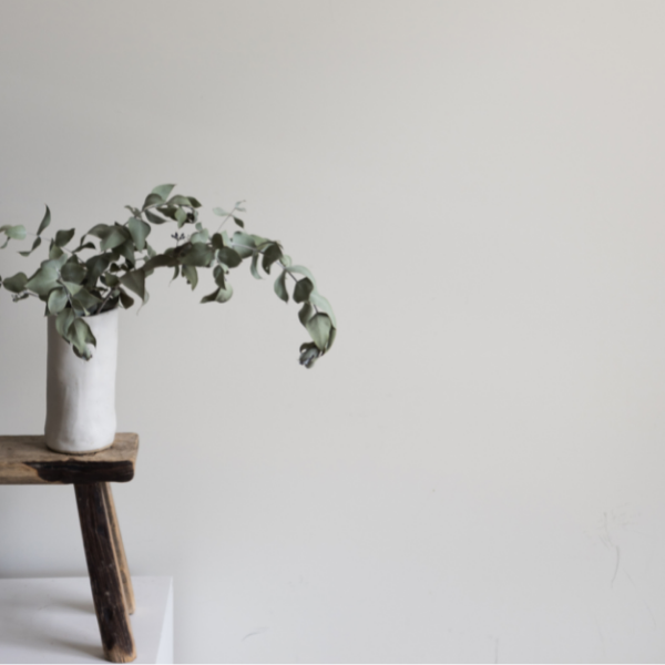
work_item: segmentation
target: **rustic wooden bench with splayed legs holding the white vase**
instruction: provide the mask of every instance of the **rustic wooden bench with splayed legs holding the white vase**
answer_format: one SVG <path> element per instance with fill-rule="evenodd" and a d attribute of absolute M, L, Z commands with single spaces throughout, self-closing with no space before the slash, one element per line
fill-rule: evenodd
<path fill-rule="evenodd" d="M 136 648 L 129 616 L 134 591 L 110 483 L 134 478 L 137 452 L 132 433 L 86 456 L 52 452 L 44 437 L 0 436 L 0 484 L 74 485 L 102 645 L 112 663 L 130 663 Z"/>

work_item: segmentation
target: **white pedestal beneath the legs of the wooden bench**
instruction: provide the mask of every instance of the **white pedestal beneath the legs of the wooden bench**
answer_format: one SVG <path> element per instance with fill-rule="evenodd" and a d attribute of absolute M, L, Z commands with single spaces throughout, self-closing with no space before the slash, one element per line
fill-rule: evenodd
<path fill-rule="evenodd" d="M 134 663 L 173 663 L 172 579 L 132 583 Z M 90 580 L 0 580 L 0 663 L 108 663 Z"/>

